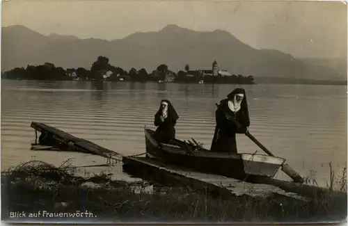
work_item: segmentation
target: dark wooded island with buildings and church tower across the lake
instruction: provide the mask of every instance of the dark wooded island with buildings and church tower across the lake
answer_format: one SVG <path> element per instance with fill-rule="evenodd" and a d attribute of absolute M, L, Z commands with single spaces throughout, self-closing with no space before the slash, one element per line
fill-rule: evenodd
<path fill-rule="evenodd" d="M 99 56 L 92 64 L 90 70 L 84 67 L 77 69 L 56 67 L 52 63 L 44 65 L 27 65 L 24 67 L 15 67 L 13 70 L 2 72 L 3 79 L 17 80 L 51 80 L 51 81 L 164 81 L 177 83 L 239 83 L 239 84 L 254 84 L 253 76 L 242 76 L 242 74 L 232 74 L 232 76 L 209 76 L 202 75 L 199 71 L 189 71 L 189 65 L 185 66 L 185 70 L 180 70 L 177 73 L 169 70 L 168 65 L 161 64 L 156 70 L 150 74 L 141 68 L 136 70 L 132 67 L 129 72 L 120 67 L 115 67 L 109 63 L 109 58 Z"/>

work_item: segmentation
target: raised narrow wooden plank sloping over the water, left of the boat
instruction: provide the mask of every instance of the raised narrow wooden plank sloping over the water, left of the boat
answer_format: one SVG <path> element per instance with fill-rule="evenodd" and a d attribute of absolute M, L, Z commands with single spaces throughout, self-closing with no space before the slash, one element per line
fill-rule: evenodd
<path fill-rule="evenodd" d="M 112 156 L 120 155 L 117 152 L 108 150 L 88 140 L 77 138 L 76 136 L 72 136 L 71 134 L 65 133 L 60 129 L 50 127 L 47 124 L 43 124 L 40 122 L 31 122 L 31 127 L 37 131 L 40 131 L 40 133 L 45 133 L 52 136 L 52 138 L 56 140 L 56 144 L 52 144 L 52 146 L 64 145 L 68 150 L 76 152 L 85 152 L 89 154 L 97 154 L 99 156 L 104 156 L 106 158 L 111 159 L 113 159 Z"/>

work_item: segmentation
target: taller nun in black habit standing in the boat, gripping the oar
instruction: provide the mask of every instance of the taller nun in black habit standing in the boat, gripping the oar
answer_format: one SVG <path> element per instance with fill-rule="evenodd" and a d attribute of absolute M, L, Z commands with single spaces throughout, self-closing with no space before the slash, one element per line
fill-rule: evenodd
<path fill-rule="evenodd" d="M 213 152 L 237 153 L 236 134 L 245 134 L 250 126 L 248 104 L 243 88 L 236 88 L 221 100 L 215 112 Z"/>

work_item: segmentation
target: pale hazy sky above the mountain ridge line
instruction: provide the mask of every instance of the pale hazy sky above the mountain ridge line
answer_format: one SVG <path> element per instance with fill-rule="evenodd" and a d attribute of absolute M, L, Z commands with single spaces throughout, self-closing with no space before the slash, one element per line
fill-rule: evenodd
<path fill-rule="evenodd" d="M 347 4 L 340 1 L 3 1 L 2 26 L 17 24 L 44 35 L 105 40 L 177 24 L 226 30 L 256 49 L 296 57 L 347 56 Z"/>

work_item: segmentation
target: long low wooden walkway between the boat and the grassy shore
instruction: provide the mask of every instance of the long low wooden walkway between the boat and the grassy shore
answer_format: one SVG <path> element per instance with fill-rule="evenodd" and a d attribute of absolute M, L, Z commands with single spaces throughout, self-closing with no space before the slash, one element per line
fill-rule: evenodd
<path fill-rule="evenodd" d="M 207 190 L 218 192 L 223 196 L 239 196 L 248 195 L 252 197 L 269 197 L 271 195 L 282 195 L 295 200 L 306 200 L 305 197 L 294 193 L 287 193 L 282 189 L 268 184 L 251 184 L 246 181 L 240 181 L 230 177 L 220 175 L 211 175 L 202 172 L 196 172 L 177 166 L 164 165 L 154 159 L 144 157 L 122 156 L 125 165 L 136 168 L 139 172 L 145 172 L 146 168 L 150 168 L 152 172 L 156 172 L 153 176 L 168 177 L 181 183 L 193 186 L 198 189 L 207 188 Z"/>

